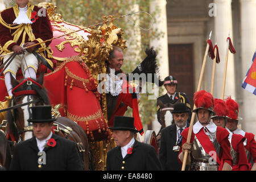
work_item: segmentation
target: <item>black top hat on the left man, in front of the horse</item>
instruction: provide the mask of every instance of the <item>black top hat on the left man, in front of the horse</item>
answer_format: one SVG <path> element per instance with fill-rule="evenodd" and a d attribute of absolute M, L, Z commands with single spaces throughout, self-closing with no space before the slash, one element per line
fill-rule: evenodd
<path fill-rule="evenodd" d="M 52 118 L 52 106 L 42 105 L 30 107 L 32 117 L 27 119 L 28 122 L 44 123 L 56 121 L 56 118 Z"/>

